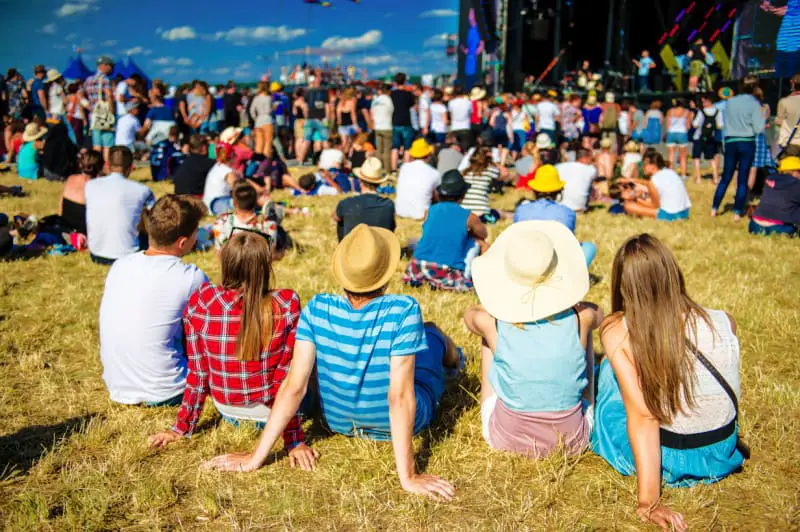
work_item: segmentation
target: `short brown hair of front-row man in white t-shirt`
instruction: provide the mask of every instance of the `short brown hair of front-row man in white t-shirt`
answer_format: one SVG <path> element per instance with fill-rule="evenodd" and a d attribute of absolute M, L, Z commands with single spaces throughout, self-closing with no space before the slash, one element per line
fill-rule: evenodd
<path fill-rule="evenodd" d="M 159 199 L 153 208 L 142 214 L 150 242 L 169 247 L 180 237 L 189 238 L 208 210 L 197 198 L 169 194 Z"/>

